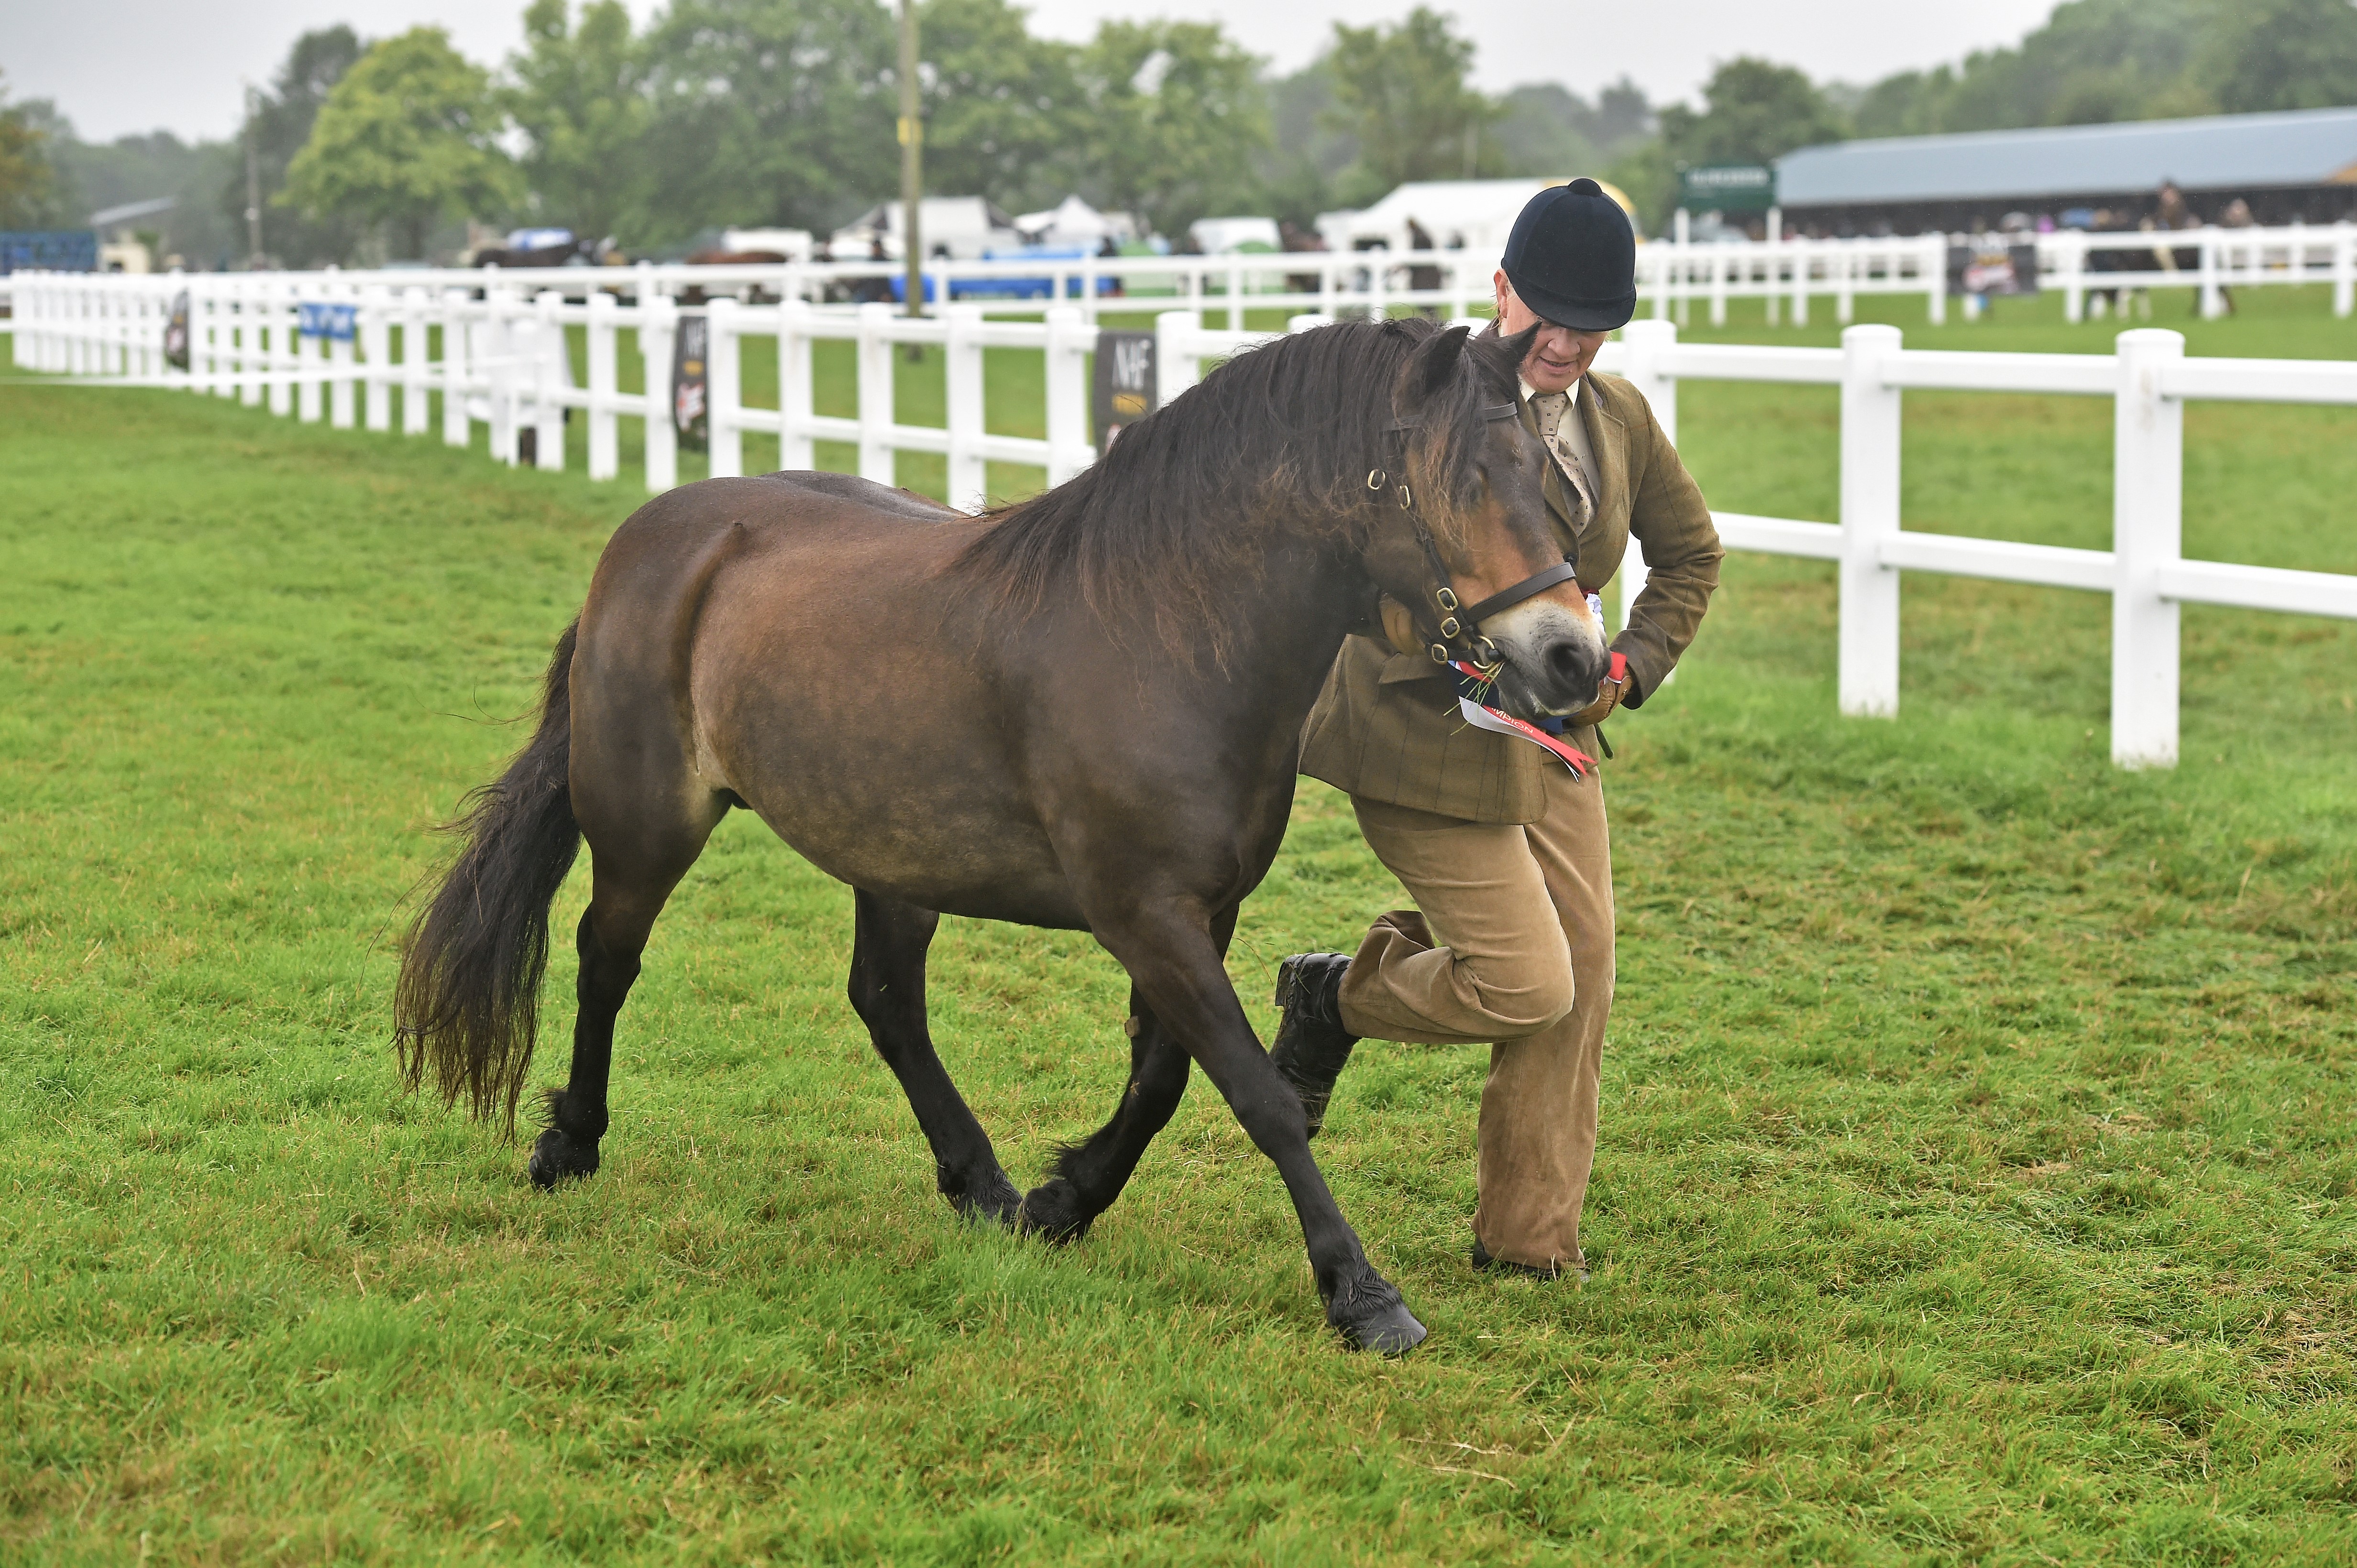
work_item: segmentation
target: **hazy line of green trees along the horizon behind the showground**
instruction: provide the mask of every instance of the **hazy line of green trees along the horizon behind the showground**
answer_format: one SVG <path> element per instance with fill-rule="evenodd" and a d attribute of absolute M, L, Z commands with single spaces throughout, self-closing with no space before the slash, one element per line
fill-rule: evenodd
<path fill-rule="evenodd" d="M 1846 137 L 2079 125 L 2357 104 L 2352 0 L 2069 0 L 2011 49 L 1869 87 L 1763 59 L 1697 104 L 1626 78 L 1473 87 L 1450 16 L 1336 24 L 1270 75 L 1216 24 L 1105 21 L 1037 38 L 1009 0 L 922 0 L 926 186 L 1044 207 L 1077 191 L 1162 233 L 1209 214 L 1308 226 L 1409 179 L 1596 172 L 1662 224 L 1681 165 L 1768 162 Z M 245 254 L 245 141 L 278 264 L 453 250 L 460 219 L 559 224 L 629 252 L 719 226 L 830 231 L 898 188 L 893 16 L 874 0 L 533 0 L 500 71 L 436 28 L 306 33 L 245 134 L 73 139 L 49 104 L 0 99 L 0 228 L 179 195 L 158 247 Z"/>

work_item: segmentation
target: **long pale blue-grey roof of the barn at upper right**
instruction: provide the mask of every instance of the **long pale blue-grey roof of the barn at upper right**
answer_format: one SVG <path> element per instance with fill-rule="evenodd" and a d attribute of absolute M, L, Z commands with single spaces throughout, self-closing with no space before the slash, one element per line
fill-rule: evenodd
<path fill-rule="evenodd" d="M 1777 160 L 1787 207 L 2357 184 L 2357 108 L 2058 125 L 1805 146 Z"/>

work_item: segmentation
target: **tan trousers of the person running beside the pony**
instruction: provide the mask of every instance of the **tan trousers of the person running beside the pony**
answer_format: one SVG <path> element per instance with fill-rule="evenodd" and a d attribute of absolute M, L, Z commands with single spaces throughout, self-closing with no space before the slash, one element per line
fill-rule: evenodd
<path fill-rule="evenodd" d="M 1579 1267 L 1612 1010 L 1612 841 L 1598 775 L 1546 779 L 1546 812 L 1525 826 L 1351 798 L 1421 916 L 1367 930 L 1341 1019 L 1376 1041 L 1492 1041 L 1473 1236 L 1492 1257 Z"/>

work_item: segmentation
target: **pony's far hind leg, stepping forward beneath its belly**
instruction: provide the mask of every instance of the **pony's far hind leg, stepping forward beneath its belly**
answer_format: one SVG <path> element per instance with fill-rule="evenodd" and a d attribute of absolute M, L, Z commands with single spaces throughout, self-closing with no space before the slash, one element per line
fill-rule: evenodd
<path fill-rule="evenodd" d="M 867 1024 L 877 1055 L 900 1081 L 924 1142 L 933 1147 L 940 1196 L 962 1215 L 1014 1224 L 1023 1198 L 999 1168 L 983 1123 L 950 1083 L 924 1022 L 924 954 L 940 916 L 858 890 L 853 918 L 851 1008 Z"/>

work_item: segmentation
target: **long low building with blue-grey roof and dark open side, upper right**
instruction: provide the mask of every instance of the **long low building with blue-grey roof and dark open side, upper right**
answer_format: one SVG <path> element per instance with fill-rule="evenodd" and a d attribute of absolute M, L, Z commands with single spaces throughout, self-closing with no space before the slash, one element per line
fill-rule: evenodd
<path fill-rule="evenodd" d="M 2211 219 L 2357 217 L 2357 108 L 2053 125 L 1808 146 L 1777 160 L 1784 221 L 1822 233 L 1994 228 L 2006 212 L 2143 214 L 2161 181 Z"/>

